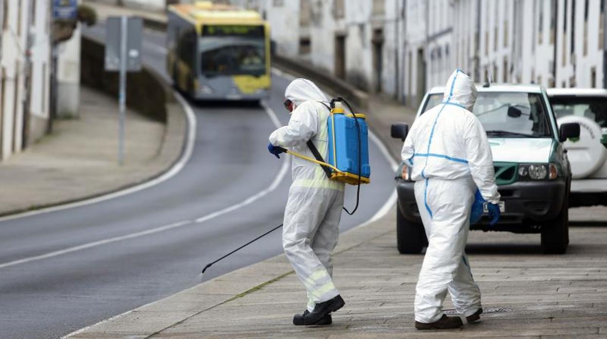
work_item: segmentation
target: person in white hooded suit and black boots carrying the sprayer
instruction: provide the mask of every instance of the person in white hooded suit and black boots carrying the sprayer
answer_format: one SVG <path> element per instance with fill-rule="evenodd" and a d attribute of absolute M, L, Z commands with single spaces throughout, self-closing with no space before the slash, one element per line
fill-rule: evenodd
<path fill-rule="evenodd" d="M 295 79 L 285 90 L 285 98 L 291 118 L 288 126 L 270 135 L 270 153 L 279 156 L 289 149 L 314 158 L 307 146 L 311 140 L 327 159 L 327 97 L 314 82 Z M 331 262 L 344 207 L 344 183 L 329 180 L 318 164 L 296 157 L 292 161 L 293 184 L 285 208 L 282 246 L 308 291 L 307 309 L 293 317 L 293 324 L 330 324 L 330 313 L 344 306 L 333 284 Z"/>

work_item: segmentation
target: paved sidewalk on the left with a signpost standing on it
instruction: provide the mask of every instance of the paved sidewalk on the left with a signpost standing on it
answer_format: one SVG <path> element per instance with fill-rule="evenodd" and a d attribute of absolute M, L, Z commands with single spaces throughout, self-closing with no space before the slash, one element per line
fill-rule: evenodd
<path fill-rule="evenodd" d="M 125 162 L 118 165 L 118 104 L 81 88 L 79 118 L 0 163 L 0 215 L 53 206 L 132 186 L 160 175 L 180 156 L 185 116 L 164 125 L 127 110 Z"/>

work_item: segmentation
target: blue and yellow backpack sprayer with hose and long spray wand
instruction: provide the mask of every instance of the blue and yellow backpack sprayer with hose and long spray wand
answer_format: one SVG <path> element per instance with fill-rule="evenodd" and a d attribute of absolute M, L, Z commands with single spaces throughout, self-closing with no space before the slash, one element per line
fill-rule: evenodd
<path fill-rule="evenodd" d="M 350 110 L 352 113 L 346 113 L 343 104 L 345 104 L 348 107 L 348 110 Z M 342 183 L 358 186 L 356 189 L 356 206 L 352 212 L 348 211 L 344 207 L 346 213 L 353 215 L 358 209 L 361 184 L 371 183 L 367 122 L 365 121 L 365 115 L 353 113 L 354 110 L 343 98 L 332 99 L 330 102 L 330 107 L 324 103 L 323 105 L 330 110 L 330 115 L 327 119 L 329 136 L 327 161 L 322 158 L 322 155 L 320 155 L 320 152 L 318 152 L 316 146 L 314 146 L 314 143 L 312 143 L 311 140 L 308 140 L 307 145 L 314 155 L 314 159 L 287 149 L 284 149 L 284 152 L 297 156 L 297 158 L 319 164 L 329 180 L 341 181 Z M 223 257 L 212 261 L 212 263 L 207 264 L 202 270 L 202 274 L 205 273 L 206 269 L 217 263 L 217 261 L 229 257 L 229 255 L 232 255 L 232 253 L 235 253 L 243 247 L 254 243 L 280 227 L 282 227 L 282 224 L 274 227 L 268 232 L 263 233 L 243 246 L 232 250 L 232 252 L 229 252 Z"/>

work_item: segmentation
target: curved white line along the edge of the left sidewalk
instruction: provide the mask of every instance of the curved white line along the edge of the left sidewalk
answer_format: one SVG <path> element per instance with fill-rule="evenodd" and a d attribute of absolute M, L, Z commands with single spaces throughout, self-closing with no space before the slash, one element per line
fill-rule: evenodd
<path fill-rule="evenodd" d="M 139 184 L 137 186 L 129 187 L 124 190 L 119 190 L 113 193 L 107 193 L 105 195 L 97 196 L 95 198 L 90 198 L 82 201 L 78 201 L 76 203 L 64 204 L 60 206 L 47 207 L 44 209 L 32 210 L 29 212 L 18 213 L 14 215 L 8 215 L 0 218 L 0 223 L 7 220 L 13 220 L 18 218 L 25 218 L 26 216 L 38 215 L 42 213 L 56 212 L 58 210 L 71 209 L 74 207 L 81 207 L 90 204 L 101 203 L 101 201 L 106 201 L 114 198 L 118 198 L 120 196 L 124 196 L 127 194 L 139 192 L 140 190 L 148 189 L 149 187 L 156 186 L 157 184 L 162 183 L 163 181 L 171 179 L 173 176 L 177 175 L 183 169 L 190 156 L 192 155 L 192 150 L 194 149 L 194 141 L 196 139 L 196 116 L 194 115 L 194 111 L 188 105 L 183 97 L 177 92 L 175 93 L 175 98 L 180 102 L 181 106 L 186 112 L 186 118 L 188 119 L 188 136 L 186 139 L 185 149 L 183 153 L 181 153 L 181 157 L 178 159 L 177 163 L 175 163 L 171 169 L 167 172 L 164 172 L 162 175 L 154 178 L 150 181 L 146 181 L 145 183 Z"/>

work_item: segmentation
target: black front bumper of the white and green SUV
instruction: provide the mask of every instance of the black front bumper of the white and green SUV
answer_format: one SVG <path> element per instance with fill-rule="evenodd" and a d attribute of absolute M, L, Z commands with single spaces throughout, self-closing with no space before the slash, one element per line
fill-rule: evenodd
<path fill-rule="evenodd" d="M 419 210 L 415 201 L 415 183 L 396 179 L 398 208 L 408 221 L 421 223 Z M 470 229 L 508 230 L 511 232 L 539 232 L 538 224 L 557 217 L 566 198 L 567 182 L 565 178 L 556 180 L 517 181 L 499 186 L 501 201 L 504 201 L 505 212 L 500 221 L 489 226 L 489 218 L 484 215 L 481 221 Z"/>

